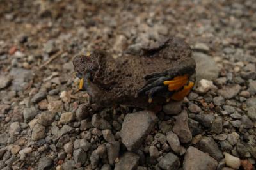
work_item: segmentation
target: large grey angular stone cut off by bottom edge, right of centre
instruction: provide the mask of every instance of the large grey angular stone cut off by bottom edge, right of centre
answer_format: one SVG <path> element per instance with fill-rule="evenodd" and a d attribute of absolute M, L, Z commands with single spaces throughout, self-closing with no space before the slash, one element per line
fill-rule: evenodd
<path fill-rule="evenodd" d="M 183 161 L 184 170 L 215 170 L 218 162 L 204 152 L 190 146 Z"/>

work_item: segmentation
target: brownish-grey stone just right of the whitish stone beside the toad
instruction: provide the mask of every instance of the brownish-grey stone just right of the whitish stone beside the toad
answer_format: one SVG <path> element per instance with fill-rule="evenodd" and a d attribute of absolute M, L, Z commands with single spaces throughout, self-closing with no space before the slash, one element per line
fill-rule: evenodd
<path fill-rule="evenodd" d="M 230 84 L 217 91 L 218 95 L 230 99 L 235 97 L 241 89 L 239 84 Z"/>

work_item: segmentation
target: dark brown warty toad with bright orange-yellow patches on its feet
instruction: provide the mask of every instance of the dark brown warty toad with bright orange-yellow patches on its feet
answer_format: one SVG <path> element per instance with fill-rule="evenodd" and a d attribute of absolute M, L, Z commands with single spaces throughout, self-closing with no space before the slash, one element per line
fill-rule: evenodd
<path fill-rule="evenodd" d="M 113 58 L 95 50 L 73 59 L 79 89 L 104 107 L 127 105 L 148 108 L 170 100 L 183 100 L 193 88 L 196 64 L 189 45 L 168 38 L 141 54 Z"/>

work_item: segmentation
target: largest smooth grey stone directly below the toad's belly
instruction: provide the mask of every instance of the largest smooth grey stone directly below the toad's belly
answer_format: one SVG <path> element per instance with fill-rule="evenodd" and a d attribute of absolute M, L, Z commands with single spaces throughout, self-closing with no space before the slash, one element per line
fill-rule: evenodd
<path fill-rule="evenodd" d="M 157 117 L 152 111 L 140 111 L 127 114 L 124 118 L 120 136 L 127 150 L 137 150 L 150 133 Z"/>

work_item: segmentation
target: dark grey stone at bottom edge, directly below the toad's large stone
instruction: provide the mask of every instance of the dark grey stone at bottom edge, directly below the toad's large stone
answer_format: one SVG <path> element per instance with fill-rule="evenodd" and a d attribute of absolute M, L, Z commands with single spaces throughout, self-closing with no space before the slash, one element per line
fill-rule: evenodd
<path fill-rule="evenodd" d="M 132 170 L 136 169 L 139 164 L 140 157 L 132 152 L 126 152 L 116 163 L 115 170 Z"/>

